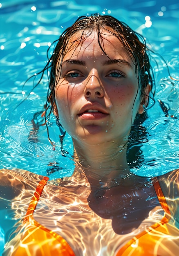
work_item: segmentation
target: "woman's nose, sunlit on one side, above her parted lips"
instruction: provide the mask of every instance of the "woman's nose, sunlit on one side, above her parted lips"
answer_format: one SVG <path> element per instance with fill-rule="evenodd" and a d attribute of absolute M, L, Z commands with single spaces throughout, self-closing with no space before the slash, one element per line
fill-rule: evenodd
<path fill-rule="evenodd" d="M 86 83 L 84 90 L 85 97 L 102 98 L 104 96 L 104 88 L 98 75 L 92 74 L 88 76 L 84 83 Z"/>

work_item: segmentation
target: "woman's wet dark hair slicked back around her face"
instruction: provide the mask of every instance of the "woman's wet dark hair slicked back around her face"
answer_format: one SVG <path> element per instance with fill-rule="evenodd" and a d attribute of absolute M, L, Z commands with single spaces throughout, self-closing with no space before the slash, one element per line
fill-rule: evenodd
<path fill-rule="evenodd" d="M 101 31 L 107 31 L 111 35 L 116 36 L 123 44 L 125 50 L 130 55 L 134 65 L 136 67 L 136 77 L 138 79 L 138 90 L 144 96 L 144 89 L 148 84 L 151 86 L 151 90 L 154 84 L 154 76 L 152 68 L 150 66 L 149 56 L 147 54 L 147 47 L 145 39 L 140 34 L 134 32 L 124 22 L 120 22 L 112 16 L 101 16 L 95 14 L 93 16 L 81 16 L 74 22 L 71 27 L 68 27 L 60 38 L 55 41 L 56 47 L 52 56 L 49 58 L 45 69 L 50 70 L 49 74 L 49 90 L 47 96 L 47 102 L 45 105 L 45 118 L 49 118 L 51 111 L 55 106 L 55 88 L 60 77 L 61 65 L 63 58 L 69 47 L 72 47 L 74 43 L 80 44 L 82 40 L 85 40 L 92 34 L 93 31 L 97 32 L 98 44 L 105 55 L 105 49 L 103 48 L 103 35 Z M 80 32 L 80 36 L 79 33 Z M 78 38 L 74 38 L 74 35 L 78 33 Z M 74 38 L 74 40 L 72 39 Z M 70 46 L 69 46 L 70 41 Z M 49 110 L 49 111 L 48 111 Z M 145 115 L 145 113 L 144 113 Z"/>

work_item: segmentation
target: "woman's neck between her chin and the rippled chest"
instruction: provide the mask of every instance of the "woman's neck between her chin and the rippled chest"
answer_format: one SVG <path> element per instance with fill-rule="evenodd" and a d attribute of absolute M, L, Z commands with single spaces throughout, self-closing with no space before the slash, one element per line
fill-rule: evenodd
<path fill-rule="evenodd" d="M 105 182 L 130 173 L 126 160 L 127 145 L 105 142 L 95 146 L 74 141 L 74 157 L 86 175 Z"/>

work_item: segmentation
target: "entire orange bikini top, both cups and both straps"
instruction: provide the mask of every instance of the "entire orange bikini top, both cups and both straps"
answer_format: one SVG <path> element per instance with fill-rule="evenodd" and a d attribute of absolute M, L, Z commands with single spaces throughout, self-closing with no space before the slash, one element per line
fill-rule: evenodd
<path fill-rule="evenodd" d="M 33 218 L 34 210 L 47 180 L 49 178 L 44 177 L 36 188 L 24 219 L 25 231 L 22 234 L 18 249 L 12 256 L 75 256 L 72 248 L 62 236 L 40 225 Z M 160 241 L 161 235 L 171 233 L 168 227 L 166 227 L 166 223 L 170 220 L 170 211 L 158 179 L 153 182 L 153 185 L 161 207 L 165 212 L 164 217 L 161 221 L 132 238 L 119 249 L 115 256 L 157 256 L 156 246 L 162 243 Z"/>

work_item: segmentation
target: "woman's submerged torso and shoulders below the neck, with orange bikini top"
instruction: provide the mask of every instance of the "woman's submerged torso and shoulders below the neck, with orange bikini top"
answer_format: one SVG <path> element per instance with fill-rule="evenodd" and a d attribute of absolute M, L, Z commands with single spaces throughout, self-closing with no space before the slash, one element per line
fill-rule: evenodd
<path fill-rule="evenodd" d="M 7 173 L 9 184 L 4 179 Z M 93 187 L 84 173 L 79 175 L 79 172 L 56 181 L 58 186 L 47 178 L 37 206 L 34 198 L 31 199 L 42 176 L 22 170 L 2 170 L 0 175 L 4 180 L 1 185 L 7 182 L 6 187 L 1 186 L 5 187 L 1 191 L 7 198 L 10 196 L 8 188 L 12 191 L 18 187 L 14 190 L 15 197 L 11 193 L 10 202 L 4 201 L 7 208 L 16 209 L 14 217 L 20 220 L 4 256 L 36 253 L 39 256 L 54 253 L 66 256 L 177 255 L 178 198 L 174 201 L 163 196 L 169 181 L 170 196 L 174 196 L 172 181 L 178 179 L 177 170 L 158 179 L 139 177 L 139 184 L 130 189 L 125 185 Z M 35 198 L 38 198 L 39 190 L 37 192 Z"/>

